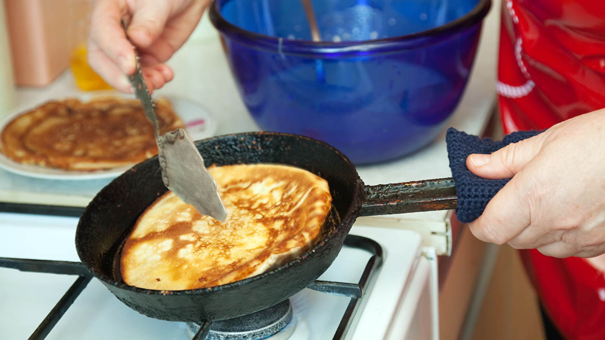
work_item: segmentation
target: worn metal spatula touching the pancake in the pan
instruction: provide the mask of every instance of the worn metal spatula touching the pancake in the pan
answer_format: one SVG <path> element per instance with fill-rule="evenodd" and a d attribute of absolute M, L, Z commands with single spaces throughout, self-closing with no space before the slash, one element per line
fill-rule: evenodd
<path fill-rule="evenodd" d="M 122 25 L 126 32 L 124 21 L 122 21 Z M 128 38 L 128 34 L 126 34 L 126 38 Z M 134 44 L 132 48 L 134 48 Z M 145 80 L 143 80 L 139 56 L 136 56 L 136 65 L 137 71 L 129 75 L 128 79 L 134 88 L 136 97 L 141 101 L 145 115 L 153 124 L 164 185 L 183 202 L 193 205 L 200 214 L 223 221 L 227 217 L 227 213 L 218 196 L 217 183 L 204 166 L 204 159 L 185 130 L 176 129 L 160 135 L 155 106 L 145 85 Z"/>

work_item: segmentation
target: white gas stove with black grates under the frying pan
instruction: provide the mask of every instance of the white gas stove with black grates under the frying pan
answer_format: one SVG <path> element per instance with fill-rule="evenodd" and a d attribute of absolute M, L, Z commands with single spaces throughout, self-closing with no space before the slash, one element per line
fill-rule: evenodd
<path fill-rule="evenodd" d="M 79 261 L 76 225 L 75 217 L 0 213 L 0 257 Z M 422 239 L 413 231 L 356 224 L 332 266 L 309 288 L 255 315 L 215 322 L 203 336 L 437 339 L 436 262 L 430 253 L 423 251 Z M 38 270 L 60 265 L 77 268 L 25 261 L 25 266 Z M 0 268 L 1 338 L 28 338 L 45 318 L 48 321 L 47 316 L 54 316 L 50 323 L 56 325 L 38 329 L 38 338 L 48 332 L 47 339 L 185 340 L 203 333 L 199 331 L 203 324 L 162 321 L 134 312 L 85 272 L 73 269 L 80 277 L 51 272 Z M 70 298 L 75 298 L 71 306 Z M 60 300 L 62 306 L 57 304 Z"/>

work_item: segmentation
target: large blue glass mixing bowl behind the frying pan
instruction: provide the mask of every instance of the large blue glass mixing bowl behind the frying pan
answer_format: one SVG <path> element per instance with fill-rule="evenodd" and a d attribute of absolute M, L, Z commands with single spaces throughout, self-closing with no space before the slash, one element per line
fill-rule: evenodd
<path fill-rule="evenodd" d="M 215 0 L 212 24 L 261 129 L 325 141 L 356 164 L 430 143 L 466 86 L 490 0 Z"/>

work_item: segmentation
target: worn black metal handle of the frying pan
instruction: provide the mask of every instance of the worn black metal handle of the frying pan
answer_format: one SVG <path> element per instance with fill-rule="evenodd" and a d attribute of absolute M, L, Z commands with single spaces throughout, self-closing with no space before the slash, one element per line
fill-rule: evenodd
<path fill-rule="evenodd" d="M 451 210 L 458 207 L 454 179 L 364 185 L 359 216 Z"/>

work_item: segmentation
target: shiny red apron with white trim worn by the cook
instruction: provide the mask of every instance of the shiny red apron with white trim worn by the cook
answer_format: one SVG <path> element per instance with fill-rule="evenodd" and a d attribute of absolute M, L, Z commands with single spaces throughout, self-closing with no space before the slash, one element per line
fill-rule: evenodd
<path fill-rule="evenodd" d="M 503 0 L 497 91 L 506 133 L 605 107 L 605 0 Z M 605 339 L 605 277 L 583 258 L 521 251 L 567 339 Z"/>

